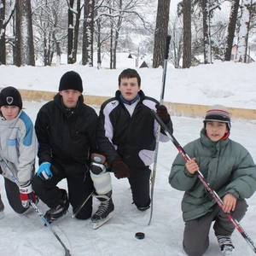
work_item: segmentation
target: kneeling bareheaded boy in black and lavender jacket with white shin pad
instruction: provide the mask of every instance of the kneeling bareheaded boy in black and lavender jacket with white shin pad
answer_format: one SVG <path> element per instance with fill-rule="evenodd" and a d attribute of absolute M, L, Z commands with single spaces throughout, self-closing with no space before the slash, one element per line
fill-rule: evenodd
<path fill-rule="evenodd" d="M 103 102 L 99 114 L 96 142 L 103 156 L 101 160 L 97 156 L 92 158 L 90 175 L 102 203 L 92 216 L 92 222 L 106 222 L 112 217 L 112 184 L 110 174 L 106 172 L 106 161 L 115 177 L 128 178 L 137 209 L 144 211 L 150 207 L 149 166 L 154 160 L 158 131 L 158 124 L 150 113 L 152 109 L 172 130 L 166 107 L 144 95 L 136 70 L 125 69 L 119 74 L 119 90 L 115 97 Z M 168 140 L 160 133 L 160 142 Z"/>

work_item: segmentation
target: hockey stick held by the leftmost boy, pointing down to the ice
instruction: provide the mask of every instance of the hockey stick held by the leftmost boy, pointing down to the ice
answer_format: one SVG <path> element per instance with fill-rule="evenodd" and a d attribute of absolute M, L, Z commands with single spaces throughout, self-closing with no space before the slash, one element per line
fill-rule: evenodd
<path fill-rule="evenodd" d="M 3 165 L 3 167 L 7 170 L 7 172 L 9 173 L 10 177 L 12 178 L 12 180 L 17 184 L 18 187 L 20 187 L 20 183 L 17 179 L 17 177 L 15 177 L 15 175 L 13 174 L 13 172 L 9 169 L 9 166 L 7 166 L 7 164 L 5 163 L 5 161 L 3 160 L 2 157 L 0 157 L 0 163 Z M 65 246 L 65 244 L 63 243 L 63 241 L 61 241 L 60 236 L 58 236 L 55 232 L 55 230 L 53 230 L 52 226 L 49 224 L 48 220 L 46 218 L 44 218 L 44 214 L 42 212 L 39 211 L 38 207 L 36 206 L 36 204 L 30 200 L 29 201 L 30 204 L 32 205 L 32 207 L 35 209 L 36 212 L 38 212 L 38 215 L 43 219 L 44 224 L 46 224 L 49 227 L 49 230 L 52 231 L 52 233 L 55 235 L 56 239 L 58 241 L 60 241 L 61 246 L 65 249 L 65 256 L 71 256 L 69 250 L 67 249 L 67 247 Z"/>

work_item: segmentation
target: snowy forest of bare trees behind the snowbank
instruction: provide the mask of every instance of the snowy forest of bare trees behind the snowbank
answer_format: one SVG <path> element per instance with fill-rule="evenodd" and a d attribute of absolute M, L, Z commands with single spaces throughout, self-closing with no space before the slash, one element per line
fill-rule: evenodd
<path fill-rule="evenodd" d="M 150 67 L 156 68 L 163 66 L 167 35 L 168 61 L 176 68 L 216 59 L 249 62 L 256 51 L 255 0 L 183 0 L 175 15 L 171 1 L 0 0 L 0 64 L 35 66 L 40 59 L 50 66 L 55 56 L 60 65 L 65 54 L 69 64 L 82 55 L 82 65 L 100 68 L 108 54 L 114 69 L 118 52 L 139 52 L 152 55 Z M 227 5 L 222 16 L 219 10 Z"/>

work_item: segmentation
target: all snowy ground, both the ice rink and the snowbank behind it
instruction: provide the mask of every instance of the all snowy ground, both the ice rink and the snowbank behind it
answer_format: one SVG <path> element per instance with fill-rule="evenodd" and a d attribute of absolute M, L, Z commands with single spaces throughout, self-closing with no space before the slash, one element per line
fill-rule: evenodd
<path fill-rule="evenodd" d="M 117 78 L 126 67 L 134 67 L 134 60 L 120 59 L 117 70 L 79 65 L 60 67 L 5 67 L 0 66 L 0 87 L 15 86 L 18 89 L 57 91 L 61 75 L 68 70 L 81 74 L 84 94 L 113 96 L 118 88 Z M 191 104 L 224 104 L 226 107 L 256 109 L 256 64 L 215 63 L 185 70 L 168 68 L 165 100 Z M 142 89 L 148 96 L 160 98 L 162 69 L 138 69 L 142 76 Z M 24 108 L 34 121 L 44 102 L 24 102 Z M 96 111 L 98 108 L 96 107 Z M 199 137 L 202 119 L 172 117 L 174 137 L 183 146 Z M 230 138 L 241 143 L 256 161 L 256 121 L 232 120 Z M 131 189 L 127 180 L 113 177 L 113 219 L 99 230 L 92 230 L 91 221 L 71 218 L 72 210 L 59 222 L 52 224 L 56 234 L 73 256 L 179 256 L 182 253 L 183 219 L 180 202 L 183 193 L 168 183 L 168 176 L 177 149 L 171 142 L 160 143 L 156 183 L 154 185 L 154 214 L 148 226 L 149 211 L 139 212 L 131 204 Z M 67 187 L 65 181 L 60 183 Z M 38 213 L 32 210 L 26 216 L 17 215 L 6 199 L 3 178 L 0 191 L 5 204 L 5 218 L 0 220 L 1 256 L 59 256 L 64 255 L 61 243 L 55 238 Z M 241 226 L 256 243 L 256 195 L 248 199 L 249 208 Z M 98 201 L 94 201 L 96 211 Z M 38 208 L 48 208 L 39 202 Z M 145 239 L 137 240 L 135 233 L 142 231 Z M 211 230 L 211 244 L 207 256 L 221 255 L 217 240 Z M 235 230 L 233 241 L 235 255 L 254 255 L 251 247 Z"/>

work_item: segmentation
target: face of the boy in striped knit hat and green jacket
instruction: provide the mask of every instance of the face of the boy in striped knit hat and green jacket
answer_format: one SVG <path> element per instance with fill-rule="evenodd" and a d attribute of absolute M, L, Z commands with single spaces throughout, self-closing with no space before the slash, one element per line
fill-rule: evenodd
<path fill-rule="evenodd" d="M 208 121 L 206 125 L 207 136 L 212 142 L 218 142 L 228 132 L 226 123 Z"/>

